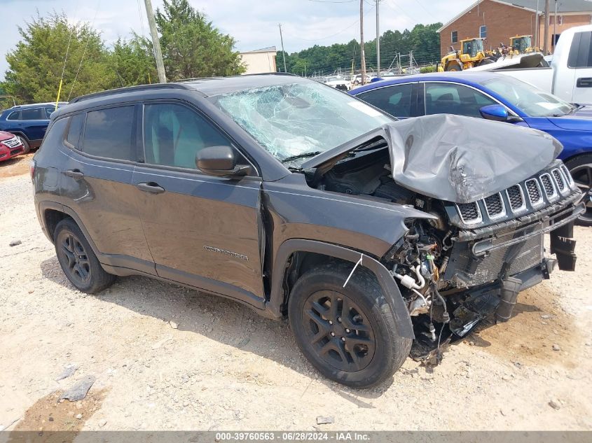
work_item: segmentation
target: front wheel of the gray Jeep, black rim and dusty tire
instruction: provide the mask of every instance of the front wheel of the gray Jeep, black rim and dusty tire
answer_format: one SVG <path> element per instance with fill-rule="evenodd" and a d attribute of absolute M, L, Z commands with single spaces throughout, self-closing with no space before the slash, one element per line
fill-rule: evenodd
<path fill-rule="evenodd" d="M 324 377 L 354 388 L 392 377 L 411 350 L 376 277 L 354 264 L 328 263 L 305 272 L 291 291 L 288 315 L 298 347 Z"/>

